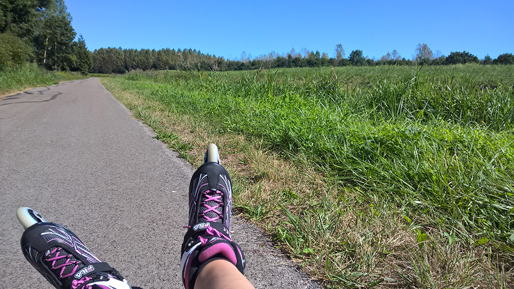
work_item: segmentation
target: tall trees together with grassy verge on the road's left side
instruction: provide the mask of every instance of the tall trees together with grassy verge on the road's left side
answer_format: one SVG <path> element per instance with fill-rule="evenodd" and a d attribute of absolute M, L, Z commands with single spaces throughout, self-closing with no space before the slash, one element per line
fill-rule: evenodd
<path fill-rule="evenodd" d="M 84 79 L 93 57 L 76 35 L 62 0 L 0 2 L 0 97 Z"/>

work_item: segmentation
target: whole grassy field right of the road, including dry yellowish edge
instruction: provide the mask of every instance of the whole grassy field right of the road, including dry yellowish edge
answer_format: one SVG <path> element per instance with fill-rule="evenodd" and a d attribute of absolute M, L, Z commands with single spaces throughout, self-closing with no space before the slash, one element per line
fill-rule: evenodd
<path fill-rule="evenodd" d="M 330 287 L 514 282 L 514 67 L 132 72 L 102 83 Z"/>

